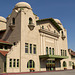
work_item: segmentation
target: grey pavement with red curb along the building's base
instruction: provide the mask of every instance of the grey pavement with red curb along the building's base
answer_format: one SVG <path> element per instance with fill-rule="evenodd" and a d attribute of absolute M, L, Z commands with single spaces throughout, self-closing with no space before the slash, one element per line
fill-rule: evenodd
<path fill-rule="evenodd" d="M 38 71 L 21 73 L 3 73 L 0 75 L 75 75 L 75 70 Z"/>

